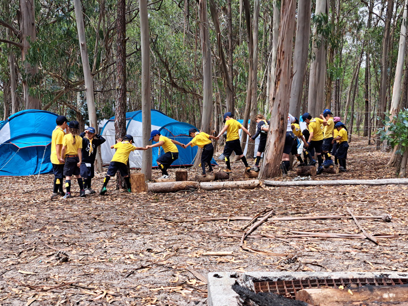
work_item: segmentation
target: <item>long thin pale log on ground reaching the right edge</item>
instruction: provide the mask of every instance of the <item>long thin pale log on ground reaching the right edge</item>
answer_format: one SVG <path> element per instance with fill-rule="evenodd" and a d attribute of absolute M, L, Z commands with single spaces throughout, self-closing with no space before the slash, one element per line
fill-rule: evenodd
<path fill-rule="evenodd" d="M 394 185 L 408 184 L 408 179 L 387 180 L 333 180 L 333 181 L 264 181 L 267 186 L 329 186 L 329 185 Z"/>

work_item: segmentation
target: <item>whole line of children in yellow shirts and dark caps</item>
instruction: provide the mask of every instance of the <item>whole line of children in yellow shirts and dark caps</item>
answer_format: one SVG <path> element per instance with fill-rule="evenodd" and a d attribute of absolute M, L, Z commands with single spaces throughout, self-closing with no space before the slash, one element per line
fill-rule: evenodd
<path fill-rule="evenodd" d="M 116 144 L 111 146 L 111 149 L 116 149 L 116 152 L 109 165 L 108 172 L 104 179 L 103 187 L 99 194 L 104 195 L 107 192 L 107 185 L 112 176 L 115 176 L 119 171 L 123 176 L 127 191 L 131 192 L 131 183 L 129 172 L 127 170 L 127 162 L 129 155 L 134 150 L 147 150 L 154 147 L 162 147 L 164 154 L 160 155 L 157 159 L 157 165 L 162 172 L 162 179 L 169 179 L 167 169 L 171 164 L 179 158 L 179 150 L 176 145 L 182 148 L 188 146 L 198 146 L 202 148 L 201 154 L 201 168 L 202 175 L 206 176 L 209 173 L 213 173 L 211 160 L 214 155 L 214 146 L 211 139 L 218 140 L 221 135 L 226 132 L 226 141 L 223 151 L 225 159 L 226 169 L 224 172 L 230 173 L 231 162 L 230 156 L 233 152 L 244 163 L 245 171 L 259 171 L 260 160 L 262 153 L 265 151 L 267 133 L 269 131 L 270 121 L 258 114 L 255 118 L 257 121 L 257 132 L 251 135 L 248 130 L 237 120 L 231 112 L 227 112 L 223 116 L 223 122 L 225 123 L 223 129 L 214 137 L 204 132 L 199 132 L 192 127 L 188 134 L 193 139 L 183 144 L 179 141 L 169 139 L 160 134 L 158 130 L 151 131 L 149 141 L 155 141 L 155 144 L 146 145 L 146 147 L 136 147 L 133 145 L 134 139 L 132 135 L 125 135 L 123 139 L 118 139 Z M 335 163 L 340 164 L 339 169 L 346 171 L 346 159 L 347 159 L 347 129 L 340 121 L 339 117 L 334 117 L 330 110 L 324 110 L 320 117 L 312 118 L 309 113 L 302 115 L 303 121 L 306 122 L 308 129 L 300 129 L 299 120 L 288 115 L 288 123 L 285 137 L 285 146 L 282 155 L 281 169 L 283 174 L 287 174 L 290 166 L 289 155 L 296 156 L 299 160 L 299 166 L 307 164 L 315 165 L 318 163 L 317 173 L 323 172 L 323 166 L 328 167 L 333 165 L 331 155 L 335 156 Z M 94 127 L 88 127 L 85 132 L 79 134 L 79 122 L 68 120 L 65 116 L 58 116 L 56 120 L 57 126 L 52 134 L 52 148 L 51 148 L 51 162 L 54 169 L 54 190 L 52 198 L 57 196 L 64 196 L 64 198 L 71 197 L 71 177 L 74 176 L 80 187 L 80 196 L 85 197 L 87 194 L 93 194 L 95 191 L 91 188 L 91 181 L 94 177 L 94 163 L 96 158 L 97 147 L 103 144 L 106 139 L 96 134 Z M 242 152 L 241 142 L 239 139 L 239 130 L 245 132 L 250 141 L 254 141 L 258 135 L 260 136 L 260 142 L 258 145 L 258 152 L 255 165 L 249 167 L 248 162 Z M 67 130 L 65 134 L 64 130 Z M 304 161 L 297 152 L 297 141 L 299 138 L 303 142 L 303 156 Z M 318 162 L 314 159 L 316 156 Z M 325 158 L 323 162 L 322 154 Z M 206 172 L 206 165 L 209 170 Z M 63 178 L 65 177 L 66 192 L 63 191 Z"/>

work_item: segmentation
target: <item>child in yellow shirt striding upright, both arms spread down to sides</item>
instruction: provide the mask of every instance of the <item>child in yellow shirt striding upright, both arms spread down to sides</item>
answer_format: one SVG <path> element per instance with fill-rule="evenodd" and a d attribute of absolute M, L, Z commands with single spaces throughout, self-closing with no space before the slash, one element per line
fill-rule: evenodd
<path fill-rule="evenodd" d="M 245 127 L 241 123 L 239 123 L 237 120 L 234 119 L 234 116 L 231 112 L 227 112 L 224 114 L 223 122 L 225 123 L 225 125 L 222 128 L 221 132 L 216 137 L 216 139 L 218 140 L 220 136 L 224 134 L 224 132 L 226 131 L 226 141 L 225 141 L 224 152 L 223 152 L 223 155 L 225 157 L 225 164 L 226 164 L 226 169 L 224 169 L 224 172 L 227 172 L 227 173 L 232 172 L 231 164 L 230 164 L 230 156 L 233 151 L 244 163 L 245 171 L 249 171 L 251 167 L 248 166 L 248 162 L 246 161 L 246 158 L 242 152 L 241 142 L 239 141 L 238 132 L 239 132 L 239 129 L 241 129 L 249 137 L 251 137 L 251 134 L 249 134 L 248 130 L 245 129 Z"/>

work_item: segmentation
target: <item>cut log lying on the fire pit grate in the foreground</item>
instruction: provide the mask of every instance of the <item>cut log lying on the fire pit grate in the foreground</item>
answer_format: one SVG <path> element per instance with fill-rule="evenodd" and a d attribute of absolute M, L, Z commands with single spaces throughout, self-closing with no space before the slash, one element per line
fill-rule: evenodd
<path fill-rule="evenodd" d="M 355 289 L 303 289 L 296 300 L 313 305 L 336 305 L 345 302 L 404 302 L 408 300 L 408 285 L 364 286 Z"/>

